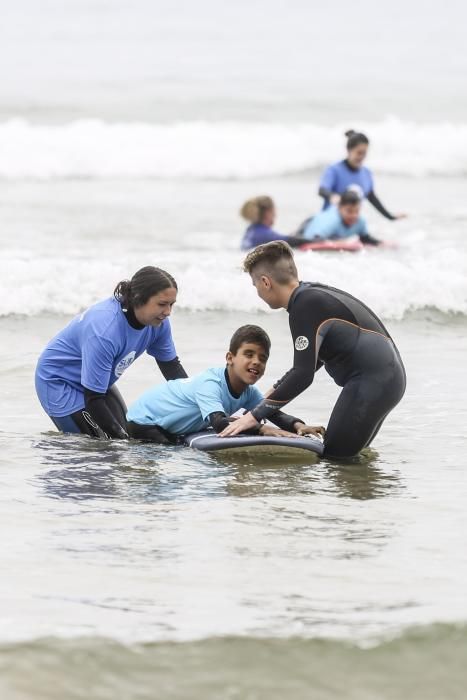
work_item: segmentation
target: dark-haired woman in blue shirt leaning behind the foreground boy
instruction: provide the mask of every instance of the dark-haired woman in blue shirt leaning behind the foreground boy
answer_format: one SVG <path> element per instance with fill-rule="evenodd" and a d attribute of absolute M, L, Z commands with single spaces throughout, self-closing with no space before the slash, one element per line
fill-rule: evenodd
<path fill-rule="evenodd" d="M 177 291 L 168 272 L 143 267 L 48 343 L 37 363 L 36 391 L 59 430 L 128 438 L 127 408 L 115 382 L 144 351 L 165 379 L 187 376 L 168 318 Z"/>

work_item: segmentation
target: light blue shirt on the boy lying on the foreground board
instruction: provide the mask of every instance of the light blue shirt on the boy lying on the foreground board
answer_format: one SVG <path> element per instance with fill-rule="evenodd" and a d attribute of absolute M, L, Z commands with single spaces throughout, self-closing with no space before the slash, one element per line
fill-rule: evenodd
<path fill-rule="evenodd" d="M 230 416 L 241 408 L 251 410 L 263 400 L 254 386 L 240 396 L 229 391 L 224 367 L 213 367 L 188 379 L 173 379 L 145 391 L 128 409 L 127 420 L 158 425 L 182 435 L 207 428 L 208 416 L 221 411 Z"/>

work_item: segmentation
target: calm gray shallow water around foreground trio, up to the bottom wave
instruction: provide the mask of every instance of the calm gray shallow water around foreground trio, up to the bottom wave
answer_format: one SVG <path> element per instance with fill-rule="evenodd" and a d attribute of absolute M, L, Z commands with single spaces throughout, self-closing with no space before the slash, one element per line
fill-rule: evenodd
<path fill-rule="evenodd" d="M 190 316 L 177 319 L 184 348 Z M 198 316 L 196 333 L 211 350 L 202 358 L 186 350 L 185 364 L 194 371 L 212 364 L 222 357 L 219 338 L 254 318 Z M 270 377 L 290 352 L 284 321 L 267 316 Z M 1 434 L 4 640 L 358 640 L 465 619 L 466 409 L 459 387 L 466 374 L 461 366 L 452 372 L 464 321 L 440 318 L 436 330 L 423 319 L 393 324 L 410 377 L 406 397 L 373 449 L 342 465 L 223 460 L 187 448 L 59 435 L 28 398 L 33 360 L 57 319 L 36 319 L 34 340 L 31 323 L 13 322 L 15 347 L 28 339 L 29 349 L 14 374 L 2 370 L 10 415 Z M 6 325 L 11 319 L 1 323 L 2 340 L 14 354 Z M 127 400 L 153 372 L 148 358 L 127 373 Z M 21 374 L 28 379 L 18 391 Z M 331 392 L 337 387 L 320 372 L 291 411 L 325 423 Z"/>

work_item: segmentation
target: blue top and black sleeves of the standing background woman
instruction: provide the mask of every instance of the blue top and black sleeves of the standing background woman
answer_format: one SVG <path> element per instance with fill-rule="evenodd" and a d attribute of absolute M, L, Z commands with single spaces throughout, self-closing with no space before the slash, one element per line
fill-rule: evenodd
<path fill-rule="evenodd" d="M 371 170 L 364 165 L 353 168 L 347 160 L 340 160 L 330 165 L 321 176 L 318 193 L 324 199 L 323 209 L 330 206 L 329 200 L 332 194 L 343 194 L 349 187 L 358 188 L 361 196 L 368 199 L 386 219 L 393 221 L 396 218 L 388 212 L 376 196 Z"/>

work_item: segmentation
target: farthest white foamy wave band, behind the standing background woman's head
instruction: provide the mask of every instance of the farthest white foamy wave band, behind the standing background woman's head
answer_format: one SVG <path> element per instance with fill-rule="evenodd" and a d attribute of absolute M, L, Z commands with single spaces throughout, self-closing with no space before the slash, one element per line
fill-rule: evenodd
<path fill-rule="evenodd" d="M 274 124 L 254 122 L 62 125 L 14 119 L 0 124 L 3 178 L 248 179 L 303 172 L 342 158 L 344 131 L 371 140 L 369 165 L 380 173 L 467 173 L 467 124 Z"/>

